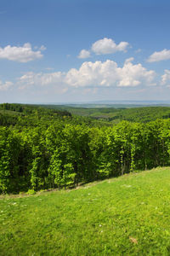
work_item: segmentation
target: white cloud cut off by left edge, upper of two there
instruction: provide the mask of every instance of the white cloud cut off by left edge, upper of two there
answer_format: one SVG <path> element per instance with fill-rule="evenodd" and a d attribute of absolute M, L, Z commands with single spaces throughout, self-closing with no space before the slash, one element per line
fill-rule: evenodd
<path fill-rule="evenodd" d="M 37 51 L 31 49 L 31 44 L 26 43 L 21 47 L 8 45 L 0 48 L 0 59 L 7 59 L 9 61 L 28 62 L 42 58 L 41 50 L 45 47 L 42 46 Z"/>

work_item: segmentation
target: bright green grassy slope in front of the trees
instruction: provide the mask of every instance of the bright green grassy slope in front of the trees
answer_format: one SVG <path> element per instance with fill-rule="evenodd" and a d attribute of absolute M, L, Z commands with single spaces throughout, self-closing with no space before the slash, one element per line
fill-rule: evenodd
<path fill-rule="evenodd" d="M 0 255 L 170 255 L 170 168 L 2 196 Z"/>

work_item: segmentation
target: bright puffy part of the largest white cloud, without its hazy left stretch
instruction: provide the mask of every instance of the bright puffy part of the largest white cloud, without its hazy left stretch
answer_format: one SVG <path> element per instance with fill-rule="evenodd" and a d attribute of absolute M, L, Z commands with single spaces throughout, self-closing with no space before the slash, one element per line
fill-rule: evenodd
<path fill-rule="evenodd" d="M 133 65 L 133 58 L 118 67 L 115 61 L 83 62 L 79 69 L 72 68 L 65 76 L 65 83 L 74 87 L 84 86 L 137 86 L 151 84 L 156 73 L 147 71 L 141 64 Z"/>

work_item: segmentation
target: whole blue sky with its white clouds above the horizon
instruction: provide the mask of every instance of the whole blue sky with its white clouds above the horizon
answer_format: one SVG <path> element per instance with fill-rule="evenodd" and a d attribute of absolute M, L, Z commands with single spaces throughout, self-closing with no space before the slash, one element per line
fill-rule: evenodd
<path fill-rule="evenodd" d="M 0 0 L 0 102 L 170 102 L 169 0 Z"/>

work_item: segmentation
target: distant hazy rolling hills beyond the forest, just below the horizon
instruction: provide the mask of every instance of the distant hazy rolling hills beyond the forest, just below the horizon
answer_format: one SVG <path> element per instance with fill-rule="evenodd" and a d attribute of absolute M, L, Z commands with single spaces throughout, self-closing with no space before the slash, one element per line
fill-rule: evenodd
<path fill-rule="evenodd" d="M 89 105 L 87 106 L 89 107 Z M 101 106 L 103 107 L 101 108 Z M 112 105 L 110 107 L 100 105 L 98 108 L 97 105 L 95 105 L 93 108 L 82 108 L 82 105 L 81 107 L 78 107 L 78 105 L 44 105 L 44 107 L 65 110 L 74 115 L 88 116 L 93 119 L 105 119 L 106 121 L 113 123 L 117 123 L 122 120 L 128 120 L 132 122 L 149 122 L 156 119 L 170 118 L 170 107 L 161 106 L 140 106 L 139 108 L 135 108 L 135 106 L 132 105 L 119 105 L 114 108 Z"/>

